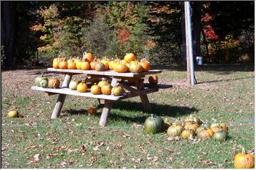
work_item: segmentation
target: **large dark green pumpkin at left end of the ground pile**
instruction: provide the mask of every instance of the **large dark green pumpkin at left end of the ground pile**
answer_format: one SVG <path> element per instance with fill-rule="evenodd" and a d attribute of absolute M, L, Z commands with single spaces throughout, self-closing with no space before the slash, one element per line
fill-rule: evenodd
<path fill-rule="evenodd" d="M 158 116 L 151 114 L 151 117 L 146 118 L 144 123 L 146 134 L 155 134 L 164 131 L 164 120 Z"/>

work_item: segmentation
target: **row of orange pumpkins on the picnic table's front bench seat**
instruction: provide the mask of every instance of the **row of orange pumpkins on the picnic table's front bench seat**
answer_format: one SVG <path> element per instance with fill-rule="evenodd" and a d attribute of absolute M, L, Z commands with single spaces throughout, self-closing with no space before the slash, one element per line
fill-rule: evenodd
<path fill-rule="evenodd" d="M 85 93 L 87 91 L 87 84 L 85 81 L 70 81 L 69 88 L 71 90 L 76 90 L 80 93 Z M 94 84 L 91 86 L 90 91 L 92 94 L 105 94 L 105 95 L 114 95 L 114 96 L 122 96 L 125 91 L 121 86 L 112 87 L 106 79 L 102 79 L 98 84 Z"/>

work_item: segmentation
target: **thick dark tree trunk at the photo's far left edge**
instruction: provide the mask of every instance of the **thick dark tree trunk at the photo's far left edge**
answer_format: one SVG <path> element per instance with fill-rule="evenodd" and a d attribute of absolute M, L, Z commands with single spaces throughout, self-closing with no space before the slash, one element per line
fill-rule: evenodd
<path fill-rule="evenodd" d="M 5 69 L 10 69 L 16 61 L 16 2 L 1 1 L 1 45 L 4 45 L 6 60 L 4 61 Z M 3 42 L 3 43 L 2 43 Z"/>

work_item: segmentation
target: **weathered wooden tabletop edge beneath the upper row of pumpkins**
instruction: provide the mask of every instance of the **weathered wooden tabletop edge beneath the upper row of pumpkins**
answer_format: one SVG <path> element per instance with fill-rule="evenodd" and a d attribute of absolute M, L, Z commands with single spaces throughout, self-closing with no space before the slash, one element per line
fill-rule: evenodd
<path fill-rule="evenodd" d="M 161 70 L 159 69 L 152 69 L 149 70 L 149 72 L 142 72 L 139 74 L 127 72 L 127 73 L 118 73 L 114 72 L 113 70 L 107 70 L 105 72 L 97 72 L 95 70 L 82 70 L 82 69 L 54 69 L 54 68 L 48 68 L 48 72 L 67 72 L 67 73 L 73 73 L 73 74 L 94 74 L 94 75 L 102 75 L 102 76 L 112 76 L 112 77 L 142 77 L 144 75 L 148 74 L 157 74 L 161 73 Z"/>

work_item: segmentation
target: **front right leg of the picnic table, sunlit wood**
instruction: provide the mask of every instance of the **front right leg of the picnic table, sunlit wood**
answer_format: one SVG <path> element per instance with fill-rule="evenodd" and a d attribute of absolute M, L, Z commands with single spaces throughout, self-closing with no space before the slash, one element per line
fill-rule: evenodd
<path fill-rule="evenodd" d="M 117 79 L 113 78 L 111 81 L 111 86 L 116 86 Z M 102 109 L 102 115 L 100 116 L 100 126 L 105 126 L 107 123 L 107 118 L 110 116 L 110 111 L 113 105 L 113 101 L 105 100 L 104 108 Z"/>

